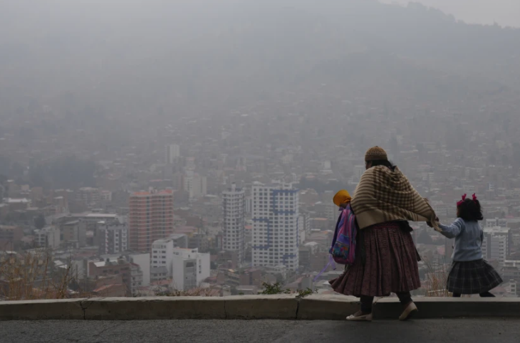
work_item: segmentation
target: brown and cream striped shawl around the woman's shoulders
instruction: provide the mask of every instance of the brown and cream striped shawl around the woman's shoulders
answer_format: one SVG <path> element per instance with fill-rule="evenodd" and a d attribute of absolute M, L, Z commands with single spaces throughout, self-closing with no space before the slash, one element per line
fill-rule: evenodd
<path fill-rule="evenodd" d="M 437 228 L 435 211 L 395 167 L 377 166 L 361 176 L 351 201 L 360 229 L 387 221 L 430 221 Z"/>

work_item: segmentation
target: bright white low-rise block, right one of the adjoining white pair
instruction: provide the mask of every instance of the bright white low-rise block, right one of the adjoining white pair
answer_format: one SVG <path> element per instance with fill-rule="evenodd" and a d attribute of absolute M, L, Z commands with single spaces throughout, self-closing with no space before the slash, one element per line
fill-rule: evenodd
<path fill-rule="evenodd" d="M 199 249 L 173 249 L 172 288 L 190 290 L 199 287 L 210 276 L 209 253 L 199 253 Z"/>

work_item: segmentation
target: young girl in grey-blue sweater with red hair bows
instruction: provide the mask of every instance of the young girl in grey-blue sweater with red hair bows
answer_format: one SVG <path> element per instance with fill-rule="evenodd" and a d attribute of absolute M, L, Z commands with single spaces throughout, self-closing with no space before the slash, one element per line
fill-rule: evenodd
<path fill-rule="evenodd" d="M 502 283 L 496 270 L 482 258 L 484 233 L 480 228 L 482 209 L 473 194 L 473 199 L 457 202 L 457 220 L 446 226 L 439 223 L 440 233 L 447 238 L 455 238 L 452 255 L 452 270 L 449 271 L 447 290 L 454 297 L 461 294 L 479 294 L 481 297 L 494 297 L 489 290 Z"/>

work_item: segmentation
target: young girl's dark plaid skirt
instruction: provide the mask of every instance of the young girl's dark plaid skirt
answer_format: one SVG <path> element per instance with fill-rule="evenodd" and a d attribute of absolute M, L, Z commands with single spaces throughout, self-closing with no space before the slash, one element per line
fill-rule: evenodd
<path fill-rule="evenodd" d="M 488 292 L 502 283 L 499 273 L 484 259 L 452 263 L 447 290 L 459 294 Z"/>

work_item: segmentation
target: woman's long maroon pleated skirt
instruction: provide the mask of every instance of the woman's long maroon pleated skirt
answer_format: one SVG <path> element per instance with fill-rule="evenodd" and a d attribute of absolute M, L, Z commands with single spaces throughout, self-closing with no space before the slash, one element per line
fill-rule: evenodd
<path fill-rule="evenodd" d="M 353 265 L 339 278 L 329 281 L 335 292 L 344 295 L 384 297 L 395 292 L 409 292 L 421 286 L 418 254 L 410 231 L 390 221 L 358 232 Z M 361 258 L 360 246 L 365 248 Z"/>

